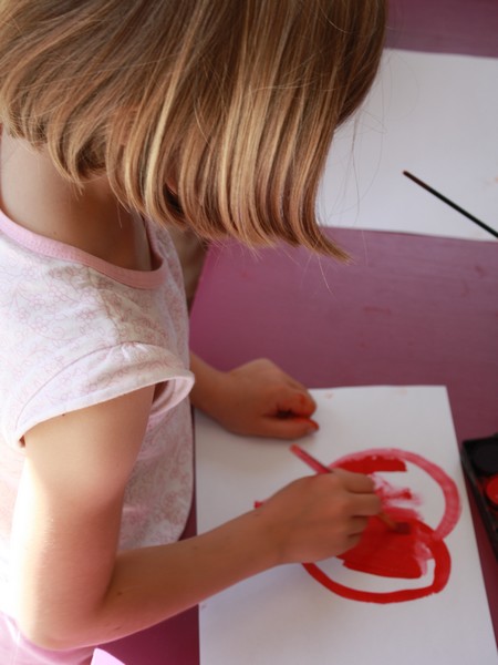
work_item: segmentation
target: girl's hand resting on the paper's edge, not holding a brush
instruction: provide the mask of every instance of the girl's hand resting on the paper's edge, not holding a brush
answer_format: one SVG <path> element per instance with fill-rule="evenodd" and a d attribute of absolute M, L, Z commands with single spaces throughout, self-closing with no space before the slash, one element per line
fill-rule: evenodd
<path fill-rule="evenodd" d="M 193 356 L 193 370 L 194 406 L 235 433 L 295 439 L 319 429 L 307 388 L 271 360 L 219 372 Z"/>

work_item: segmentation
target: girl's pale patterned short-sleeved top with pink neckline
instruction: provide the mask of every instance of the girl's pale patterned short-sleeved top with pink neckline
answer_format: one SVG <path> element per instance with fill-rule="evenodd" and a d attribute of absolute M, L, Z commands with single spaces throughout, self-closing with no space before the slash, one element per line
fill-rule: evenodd
<path fill-rule="evenodd" d="M 0 213 L 0 611 L 6 613 L 22 437 L 39 422 L 160 385 L 126 488 L 120 546 L 172 542 L 185 526 L 193 492 L 185 398 L 194 382 L 185 293 L 168 233 L 151 223 L 146 231 L 153 269 L 139 272 L 33 234 Z"/>

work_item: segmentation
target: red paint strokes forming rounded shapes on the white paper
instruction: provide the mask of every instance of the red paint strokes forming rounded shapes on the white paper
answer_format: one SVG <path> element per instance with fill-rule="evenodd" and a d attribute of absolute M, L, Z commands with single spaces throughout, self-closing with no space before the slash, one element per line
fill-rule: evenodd
<path fill-rule="evenodd" d="M 409 488 L 395 488 L 380 472 L 406 472 L 406 462 L 425 471 L 442 489 L 445 511 L 436 529 L 421 519 L 415 505 L 421 503 Z M 381 495 L 383 509 L 394 520 L 408 522 L 407 534 L 393 533 L 380 520 L 371 519 L 360 543 L 339 556 L 344 566 L 383 577 L 417 580 L 426 574 L 428 562 L 434 561 L 430 584 L 419 589 L 393 592 L 370 592 L 350 589 L 332 580 L 314 563 L 304 563 L 308 573 L 329 591 L 350 598 L 370 603 L 400 603 L 440 592 L 449 580 L 452 560 L 444 538 L 452 532 L 460 514 L 460 502 L 455 482 L 436 464 L 425 458 L 396 448 L 372 449 L 345 456 L 330 464 L 373 477 Z M 400 500 L 404 505 L 398 505 Z"/>

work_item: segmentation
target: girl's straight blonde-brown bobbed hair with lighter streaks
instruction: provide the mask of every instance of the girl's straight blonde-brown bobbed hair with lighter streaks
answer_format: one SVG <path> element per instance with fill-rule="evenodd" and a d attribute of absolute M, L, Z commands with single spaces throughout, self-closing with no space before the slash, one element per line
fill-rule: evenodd
<path fill-rule="evenodd" d="M 315 197 L 384 0 L 0 0 L 0 121 L 159 223 L 344 257 Z"/>

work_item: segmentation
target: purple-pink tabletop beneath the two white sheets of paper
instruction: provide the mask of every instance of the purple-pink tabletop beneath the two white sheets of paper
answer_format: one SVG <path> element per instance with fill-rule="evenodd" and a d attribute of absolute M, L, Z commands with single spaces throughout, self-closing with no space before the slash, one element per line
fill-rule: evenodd
<path fill-rule="evenodd" d="M 392 48 L 498 58 L 497 0 L 391 6 Z M 313 387 L 443 383 L 459 441 L 498 431 L 498 244 L 333 235 L 353 265 L 288 248 L 258 259 L 235 244 L 212 248 L 193 310 L 194 350 L 219 368 L 268 356 Z M 471 507 L 498 635 L 498 565 Z M 105 652 L 125 665 L 198 665 L 197 618 L 190 610 Z M 111 665 L 105 658 L 97 663 Z"/>

